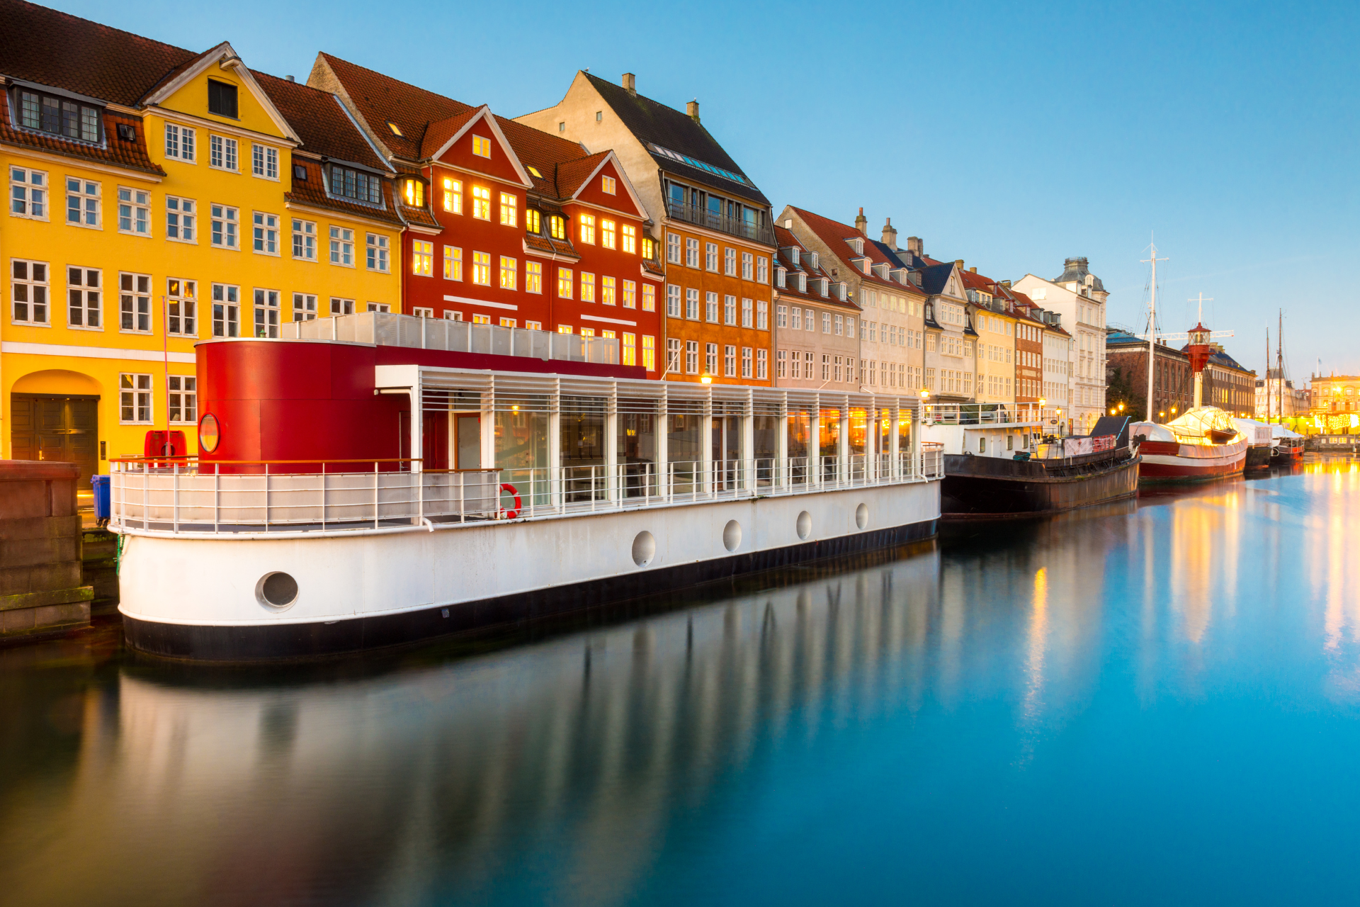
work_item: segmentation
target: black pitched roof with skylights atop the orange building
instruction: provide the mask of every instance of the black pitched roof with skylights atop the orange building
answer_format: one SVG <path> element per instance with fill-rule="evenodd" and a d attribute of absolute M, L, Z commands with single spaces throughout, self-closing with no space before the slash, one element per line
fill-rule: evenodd
<path fill-rule="evenodd" d="M 590 84 L 594 86 L 600 97 L 604 98 L 605 103 L 619 116 L 623 125 L 643 144 L 656 143 L 670 151 L 676 151 L 683 155 L 702 160 L 703 163 L 721 167 L 724 170 L 732 170 L 747 179 L 744 184 L 733 182 L 732 179 L 725 179 L 724 177 L 709 173 L 699 167 L 692 167 L 687 163 L 675 160 L 665 155 L 658 155 L 657 152 L 647 148 L 649 154 L 660 163 L 665 170 L 675 173 L 676 175 L 685 177 L 695 182 L 703 184 L 718 192 L 725 192 L 729 194 L 740 196 L 751 201 L 758 201 L 763 205 L 768 205 L 770 200 L 756 189 L 755 184 L 749 177 L 737 166 L 737 162 L 728 156 L 728 152 L 722 150 L 718 140 L 714 139 L 707 129 L 700 124 L 690 118 L 690 114 L 680 113 L 673 107 L 668 107 L 664 103 L 653 101 L 651 98 L 645 98 L 643 95 L 628 94 L 628 90 L 623 86 L 616 86 L 607 79 L 600 76 L 593 76 L 589 72 L 585 73 Z"/>

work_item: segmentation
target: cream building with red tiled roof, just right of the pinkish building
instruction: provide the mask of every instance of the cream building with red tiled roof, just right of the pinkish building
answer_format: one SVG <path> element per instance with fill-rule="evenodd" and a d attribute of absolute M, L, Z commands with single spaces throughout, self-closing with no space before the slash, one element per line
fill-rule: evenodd
<path fill-rule="evenodd" d="M 846 298 L 860 309 L 858 383 L 884 393 L 919 394 L 925 383 L 925 292 L 919 275 L 895 256 L 896 231 L 889 223 L 884 241 L 865 235 L 860 211 L 855 226 L 785 205 L 785 230 L 816 252 L 832 280 L 846 286 Z M 855 326 L 847 330 L 855 332 Z"/>

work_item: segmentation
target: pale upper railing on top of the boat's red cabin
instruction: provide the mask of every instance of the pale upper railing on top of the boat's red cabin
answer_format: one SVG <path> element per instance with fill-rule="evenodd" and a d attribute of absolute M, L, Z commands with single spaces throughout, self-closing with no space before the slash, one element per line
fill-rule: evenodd
<path fill-rule="evenodd" d="M 619 364 L 616 337 L 582 337 L 528 328 L 477 325 L 471 321 L 398 315 L 390 311 L 360 311 L 352 315 L 290 321 L 280 325 L 279 336 L 284 340 L 345 340 L 384 347 Z"/>

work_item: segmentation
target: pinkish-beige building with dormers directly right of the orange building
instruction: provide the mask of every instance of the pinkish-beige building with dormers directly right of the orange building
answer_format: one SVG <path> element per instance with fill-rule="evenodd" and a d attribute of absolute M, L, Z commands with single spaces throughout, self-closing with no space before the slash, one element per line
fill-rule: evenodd
<path fill-rule="evenodd" d="M 774 381 L 777 388 L 860 388 L 860 306 L 832 281 L 816 252 L 777 226 L 774 268 Z"/>

